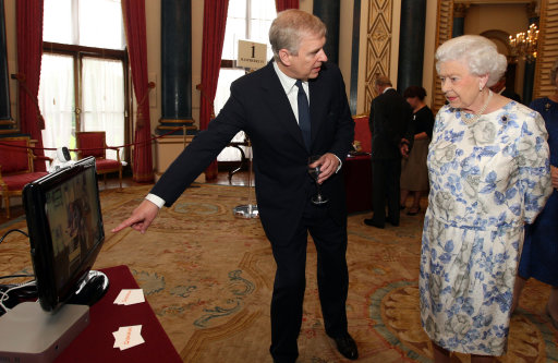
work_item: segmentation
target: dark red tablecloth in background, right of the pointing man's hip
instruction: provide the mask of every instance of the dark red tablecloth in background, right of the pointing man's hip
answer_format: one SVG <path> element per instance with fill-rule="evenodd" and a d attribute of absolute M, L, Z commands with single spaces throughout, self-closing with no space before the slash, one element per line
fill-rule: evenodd
<path fill-rule="evenodd" d="M 372 164 L 369 155 L 350 156 L 343 162 L 347 211 L 372 210 Z"/>

